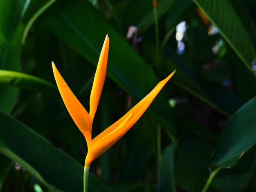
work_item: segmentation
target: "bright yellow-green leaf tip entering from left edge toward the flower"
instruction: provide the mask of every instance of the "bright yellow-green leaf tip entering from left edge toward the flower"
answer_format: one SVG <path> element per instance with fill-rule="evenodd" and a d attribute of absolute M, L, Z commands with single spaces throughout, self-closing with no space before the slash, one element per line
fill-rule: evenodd
<path fill-rule="evenodd" d="M 52 83 L 16 71 L 0 70 L 0 85 L 9 85 L 58 95 L 57 88 Z"/>

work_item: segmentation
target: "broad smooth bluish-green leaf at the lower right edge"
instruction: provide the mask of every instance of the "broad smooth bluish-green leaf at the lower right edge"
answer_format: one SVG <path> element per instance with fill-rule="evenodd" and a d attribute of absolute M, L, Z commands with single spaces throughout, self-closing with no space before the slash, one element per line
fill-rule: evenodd
<path fill-rule="evenodd" d="M 232 167 L 240 156 L 256 143 L 256 97 L 229 119 L 212 154 L 211 165 Z"/>

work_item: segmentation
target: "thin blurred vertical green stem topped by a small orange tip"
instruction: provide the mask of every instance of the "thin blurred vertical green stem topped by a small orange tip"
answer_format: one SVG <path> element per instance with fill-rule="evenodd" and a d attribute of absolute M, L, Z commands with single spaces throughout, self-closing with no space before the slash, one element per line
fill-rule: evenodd
<path fill-rule="evenodd" d="M 156 62 L 157 62 L 157 72 L 160 76 L 160 43 L 159 43 L 159 30 L 158 30 L 158 13 L 157 7 L 153 6 L 154 20 L 155 20 L 155 43 L 156 43 Z"/>

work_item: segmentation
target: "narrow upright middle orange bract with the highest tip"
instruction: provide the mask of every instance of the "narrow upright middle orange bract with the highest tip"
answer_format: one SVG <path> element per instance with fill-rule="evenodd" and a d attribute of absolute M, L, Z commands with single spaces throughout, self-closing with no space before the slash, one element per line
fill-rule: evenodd
<path fill-rule="evenodd" d="M 92 121 L 99 104 L 99 99 L 101 97 L 101 92 L 102 92 L 102 88 L 103 88 L 103 84 L 106 76 L 107 62 L 108 62 L 108 47 L 109 47 L 109 38 L 107 35 L 103 43 L 103 47 L 101 49 L 99 62 L 97 65 L 94 81 L 92 84 L 92 91 L 90 96 L 90 113 L 89 113 Z"/>

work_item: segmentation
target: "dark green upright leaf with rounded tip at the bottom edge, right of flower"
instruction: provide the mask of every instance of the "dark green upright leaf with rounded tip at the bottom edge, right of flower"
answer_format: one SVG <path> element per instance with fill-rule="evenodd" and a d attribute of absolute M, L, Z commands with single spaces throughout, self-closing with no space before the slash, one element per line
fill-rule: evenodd
<path fill-rule="evenodd" d="M 174 182 L 174 152 L 175 143 L 171 143 L 166 147 L 162 154 L 161 163 L 158 173 L 158 189 L 157 191 L 175 191 Z"/>

